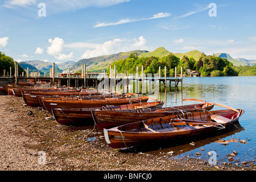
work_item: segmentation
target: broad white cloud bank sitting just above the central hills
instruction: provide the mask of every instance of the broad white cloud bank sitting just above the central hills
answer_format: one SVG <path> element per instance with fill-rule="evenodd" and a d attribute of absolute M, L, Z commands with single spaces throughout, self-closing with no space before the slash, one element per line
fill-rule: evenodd
<path fill-rule="evenodd" d="M 96 48 L 93 50 L 86 50 L 80 58 L 88 59 L 90 57 L 131 51 L 132 49 L 146 49 L 146 39 L 140 36 L 139 40 L 133 39 L 133 41 L 126 39 L 109 40 L 103 44 L 97 44 Z"/>

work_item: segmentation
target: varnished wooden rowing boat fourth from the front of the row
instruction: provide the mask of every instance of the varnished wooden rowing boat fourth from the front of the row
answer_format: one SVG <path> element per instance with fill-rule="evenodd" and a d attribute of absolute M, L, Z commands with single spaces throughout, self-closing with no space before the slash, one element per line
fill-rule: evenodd
<path fill-rule="evenodd" d="M 147 102 L 150 97 L 138 97 L 138 98 L 108 98 L 105 100 L 43 100 L 43 105 L 49 113 L 52 113 L 52 109 L 57 108 L 77 108 L 77 107 L 102 107 L 104 105 L 125 105 L 138 102 Z"/>

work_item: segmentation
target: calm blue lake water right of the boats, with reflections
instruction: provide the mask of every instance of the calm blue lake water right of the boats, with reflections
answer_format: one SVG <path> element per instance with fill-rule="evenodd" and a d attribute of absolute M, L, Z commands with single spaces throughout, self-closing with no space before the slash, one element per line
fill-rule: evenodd
<path fill-rule="evenodd" d="M 177 143 L 174 145 L 170 144 L 170 147 L 161 147 L 157 150 L 151 151 L 151 153 L 154 154 L 157 152 L 163 153 L 174 151 L 175 153 L 171 156 L 174 158 L 189 156 L 191 158 L 200 158 L 208 161 L 209 156 L 207 153 L 209 151 L 216 151 L 217 161 L 221 163 L 228 162 L 227 154 L 231 154 L 233 151 L 236 151 L 238 155 L 234 158 L 232 163 L 238 163 L 240 165 L 243 161 L 248 162 L 255 160 L 255 84 L 256 77 L 184 77 L 182 89 L 181 84 L 179 83 L 178 88 L 175 91 L 174 82 L 171 82 L 170 89 L 168 82 L 166 89 L 164 89 L 164 85 L 161 84 L 161 91 L 159 92 L 159 82 L 157 82 L 157 89 L 154 90 L 154 84 L 152 84 L 151 93 L 148 93 L 149 85 L 146 85 L 146 82 L 144 82 L 143 96 L 150 96 L 158 98 L 158 100 L 166 101 L 166 105 L 164 106 L 198 103 L 198 101 L 183 101 L 183 103 L 181 103 L 182 99 L 195 98 L 245 110 L 245 114 L 240 118 L 238 125 L 234 126 L 233 131 L 227 131 L 224 134 L 206 136 L 205 138 L 191 138 L 183 143 Z M 215 106 L 215 109 L 218 110 L 225 108 Z M 220 139 L 234 139 L 238 142 L 229 142 L 229 144 L 224 145 L 216 142 Z M 240 143 L 240 140 L 246 140 L 246 143 Z M 195 146 L 191 146 L 191 142 L 195 143 Z M 202 148 L 204 150 L 201 150 Z M 200 152 L 201 155 L 196 155 L 196 152 Z"/>

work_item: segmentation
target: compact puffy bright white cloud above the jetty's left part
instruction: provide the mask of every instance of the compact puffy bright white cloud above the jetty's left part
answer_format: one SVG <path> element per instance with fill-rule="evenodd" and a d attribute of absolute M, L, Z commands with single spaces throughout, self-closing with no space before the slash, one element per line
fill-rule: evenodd
<path fill-rule="evenodd" d="M 47 47 L 47 53 L 49 55 L 57 56 L 63 51 L 64 40 L 61 38 L 55 38 L 54 40 L 48 39 L 51 46 Z"/>

